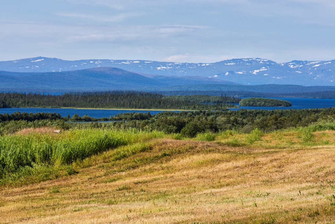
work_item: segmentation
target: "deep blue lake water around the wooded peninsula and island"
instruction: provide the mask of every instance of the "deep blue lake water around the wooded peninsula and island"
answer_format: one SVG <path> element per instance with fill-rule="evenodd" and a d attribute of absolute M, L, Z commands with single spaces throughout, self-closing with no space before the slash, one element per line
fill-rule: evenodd
<path fill-rule="evenodd" d="M 273 98 L 273 99 L 283 99 L 290 101 L 293 106 L 290 107 L 260 107 L 260 106 L 241 106 L 244 109 L 308 109 L 308 108 L 325 108 L 325 107 L 334 107 L 335 99 L 308 99 L 308 98 Z M 238 105 L 238 103 L 236 104 Z M 231 110 L 239 110 L 241 108 L 232 108 Z M 74 114 L 79 116 L 84 116 L 87 114 L 93 118 L 109 118 L 119 113 L 148 113 L 158 114 L 164 110 L 110 110 L 110 109 L 72 109 L 72 108 L 0 108 L 0 114 L 4 113 L 14 113 L 16 111 L 27 112 L 27 113 L 56 113 L 60 114 L 63 117 L 66 117 L 68 114 L 72 117 Z"/>

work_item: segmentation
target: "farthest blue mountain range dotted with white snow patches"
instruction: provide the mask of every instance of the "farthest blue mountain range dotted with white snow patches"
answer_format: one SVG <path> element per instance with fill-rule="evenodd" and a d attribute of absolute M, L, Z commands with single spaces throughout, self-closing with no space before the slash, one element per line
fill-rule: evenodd
<path fill-rule="evenodd" d="M 130 72 L 202 76 L 244 85 L 293 84 L 304 86 L 335 86 L 335 60 L 277 63 L 261 58 L 241 58 L 215 63 L 177 63 L 150 60 L 90 59 L 68 61 L 35 57 L 0 61 L 0 70 L 9 72 L 60 72 L 98 67 L 114 67 Z"/>

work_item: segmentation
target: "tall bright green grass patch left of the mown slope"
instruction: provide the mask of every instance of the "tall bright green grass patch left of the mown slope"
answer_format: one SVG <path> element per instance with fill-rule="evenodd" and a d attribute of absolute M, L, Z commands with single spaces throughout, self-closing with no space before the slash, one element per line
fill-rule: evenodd
<path fill-rule="evenodd" d="M 57 135 L 0 136 L 0 176 L 25 166 L 70 164 L 111 148 L 163 135 L 157 131 L 84 129 Z"/>

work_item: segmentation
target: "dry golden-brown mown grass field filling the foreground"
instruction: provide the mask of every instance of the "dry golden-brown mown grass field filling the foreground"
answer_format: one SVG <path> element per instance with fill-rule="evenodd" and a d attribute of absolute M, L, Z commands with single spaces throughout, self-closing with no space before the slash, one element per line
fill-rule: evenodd
<path fill-rule="evenodd" d="M 0 223 L 335 223 L 334 123 L 135 134 L 86 159 L 6 174 Z M 29 135 L 6 138 L 17 136 Z"/>

